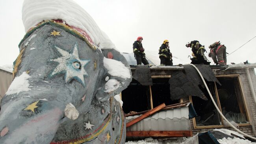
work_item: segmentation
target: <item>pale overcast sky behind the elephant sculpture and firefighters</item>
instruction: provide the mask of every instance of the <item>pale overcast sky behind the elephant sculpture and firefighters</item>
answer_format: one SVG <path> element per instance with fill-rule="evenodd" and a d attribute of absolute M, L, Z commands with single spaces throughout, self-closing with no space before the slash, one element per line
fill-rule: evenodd
<path fill-rule="evenodd" d="M 189 63 L 191 49 L 185 47 L 188 41 L 200 41 L 208 52 L 211 43 L 221 41 L 231 53 L 256 36 L 256 0 L 74 1 L 121 52 L 132 52 L 132 43 L 142 36 L 146 56 L 147 50 L 157 54 L 167 39 L 173 56 Z M 0 66 L 12 64 L 19 55 L 18 45 L 25 34 L 22 3 L 23 0 L 0 0 Z M 247 59 L 256 63 L 255 53 L 256 38 L 228 56 L 228 64 Z"/>

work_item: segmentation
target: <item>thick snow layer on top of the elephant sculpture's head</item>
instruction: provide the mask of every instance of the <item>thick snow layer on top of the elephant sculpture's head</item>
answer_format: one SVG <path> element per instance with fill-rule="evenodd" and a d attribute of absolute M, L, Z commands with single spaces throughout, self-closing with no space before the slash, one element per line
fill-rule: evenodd
<path fill-rule="evenodd" d="M 26 32 L 44 20 L 57 19 L 87 32 L 99 49 L 115 49 L 93 18 L 73 0 L 24 0 L 22 20 Z"/>

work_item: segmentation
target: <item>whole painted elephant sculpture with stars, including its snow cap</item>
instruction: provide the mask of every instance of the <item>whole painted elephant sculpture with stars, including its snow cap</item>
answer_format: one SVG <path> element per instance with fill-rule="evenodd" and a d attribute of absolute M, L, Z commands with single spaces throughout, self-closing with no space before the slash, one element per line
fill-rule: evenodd
<path fill-rule="evenodd" d="M 124 144 L 118 94 L 132 77 L 108 36 L 72 0 L 24 0 L 22 19 L 0 143 Z"/>

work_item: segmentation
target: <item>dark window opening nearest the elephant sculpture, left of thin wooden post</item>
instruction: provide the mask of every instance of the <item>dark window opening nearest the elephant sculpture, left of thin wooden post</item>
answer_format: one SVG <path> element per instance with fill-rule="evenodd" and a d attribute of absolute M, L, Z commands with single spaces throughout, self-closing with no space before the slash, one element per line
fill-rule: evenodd
<path fill-rule="evenodd" d="M 130 85 L 122 91 L 122 105 L 124 113 L 143 112 L 150 110 L 150 89 L 137 81 L 132 81 Z"/>

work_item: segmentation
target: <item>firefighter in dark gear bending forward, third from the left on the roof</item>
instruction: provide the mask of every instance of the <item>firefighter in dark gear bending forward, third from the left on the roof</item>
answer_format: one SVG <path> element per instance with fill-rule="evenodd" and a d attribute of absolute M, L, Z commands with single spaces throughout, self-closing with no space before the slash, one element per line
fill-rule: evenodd
<path fill-rule="evenodd" d="M 193 58 L 191 58 L 192 64 L 200 64 L 204 63 L 206 65 L 210 65 L 210 62 L 208 62 L 208 59 L 204 55 L 205 49 L 204 46 L 202 46 L 199 41 L 194 40 L 190 41 L 186 44 L 186 47 L 192 48 L 192 55 Z"/>

